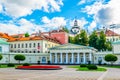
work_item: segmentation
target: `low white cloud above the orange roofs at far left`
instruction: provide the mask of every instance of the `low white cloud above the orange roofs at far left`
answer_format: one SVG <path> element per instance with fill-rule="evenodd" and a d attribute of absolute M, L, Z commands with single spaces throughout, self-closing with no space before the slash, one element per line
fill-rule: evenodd
<path fill-rule="evenodd" d="M 40 25 L 36 25 L 27 21 L 26 19 L 20 19 L 15 25 L 14 22 L 10 21 L 9 23 L 0 23 L 0 32 L 8 34 L 18 34 L 18 33 L 33 33 L 38 30 L 45 31 Z"/>

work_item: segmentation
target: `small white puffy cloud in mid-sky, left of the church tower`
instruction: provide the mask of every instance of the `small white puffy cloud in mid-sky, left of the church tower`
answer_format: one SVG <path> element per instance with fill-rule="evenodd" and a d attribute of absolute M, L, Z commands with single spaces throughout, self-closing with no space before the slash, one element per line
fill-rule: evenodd
<path fill-rule="evenodd" d="M 49 19 L 48 17 L 44 16 L 41 20 L 44 24 L 43 27 L 50 29 L 56 29 L 60 26 L 66 25 L 66 20 L 64 17 L 53 17 L 52 19 Z"/>

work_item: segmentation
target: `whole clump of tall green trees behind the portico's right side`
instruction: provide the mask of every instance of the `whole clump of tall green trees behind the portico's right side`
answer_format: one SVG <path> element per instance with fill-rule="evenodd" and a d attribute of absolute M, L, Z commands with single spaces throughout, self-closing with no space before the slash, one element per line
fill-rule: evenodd
<path fill-rule="evenodd" d="M 88 36 L 85 30 L 81 30 L 81 32 L 75 37 L 69 36 L 69 42 L 84 46 L 89 45 L 98 49 L 98 51 L 112 50 L 111 42 L 106 40 L 106 35 L 103 31 L 101 31 L 100 34 L 98 34 L 96 31 L 93 31 L 92 34 Z"/>

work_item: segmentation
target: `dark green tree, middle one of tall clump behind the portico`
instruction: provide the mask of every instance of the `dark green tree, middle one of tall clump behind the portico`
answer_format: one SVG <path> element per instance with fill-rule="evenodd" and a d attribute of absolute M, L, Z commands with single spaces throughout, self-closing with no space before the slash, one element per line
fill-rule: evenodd
<path fill-rule="evenodd" d="M 97 41 L 98 41 L 97 32 L 93 31 L 92 34 L 89 36 L 89 46 L 97 49 L 97 46 L 98 46 Z"/>

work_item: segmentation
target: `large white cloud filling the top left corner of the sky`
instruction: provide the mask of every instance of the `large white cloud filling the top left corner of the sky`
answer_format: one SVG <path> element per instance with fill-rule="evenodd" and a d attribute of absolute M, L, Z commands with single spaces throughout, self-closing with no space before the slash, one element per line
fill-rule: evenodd
<path fill-rule="evenodd" d="M 21 17 L 31 14 L 34 10 L 45 12 L 60 11 L 62 0 L 1 0 L 0 6 L 4 5 L 4 13 L 12 17 Z"/>

